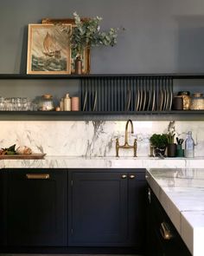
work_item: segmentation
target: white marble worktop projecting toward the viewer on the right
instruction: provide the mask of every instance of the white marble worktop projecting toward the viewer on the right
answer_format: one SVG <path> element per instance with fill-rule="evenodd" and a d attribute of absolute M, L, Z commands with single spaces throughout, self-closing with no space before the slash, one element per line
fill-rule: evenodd
<path fill-rule="evenodd" d="M 194 256 L 204 255 L 204 168 L 154 168 L 147 181 Z"/>

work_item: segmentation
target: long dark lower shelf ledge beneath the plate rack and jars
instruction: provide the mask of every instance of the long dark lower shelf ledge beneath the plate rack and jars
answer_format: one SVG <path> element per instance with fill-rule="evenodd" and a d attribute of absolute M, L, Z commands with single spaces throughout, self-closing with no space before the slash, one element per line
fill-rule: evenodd
<path fill-rule="evenodd" d="M 204 121 L 204 110 L 0 111 L 0 121 Z"/>

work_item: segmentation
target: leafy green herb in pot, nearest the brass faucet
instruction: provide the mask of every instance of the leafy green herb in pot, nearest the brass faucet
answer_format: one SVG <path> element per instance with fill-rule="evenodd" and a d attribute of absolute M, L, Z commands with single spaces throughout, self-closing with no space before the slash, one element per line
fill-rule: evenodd
<path fill-rule="evenodd" d="M 167 135 L 151 135 L 150 143 L 154 148 L 155 156 L 164 156 L 168 145 Z"/>

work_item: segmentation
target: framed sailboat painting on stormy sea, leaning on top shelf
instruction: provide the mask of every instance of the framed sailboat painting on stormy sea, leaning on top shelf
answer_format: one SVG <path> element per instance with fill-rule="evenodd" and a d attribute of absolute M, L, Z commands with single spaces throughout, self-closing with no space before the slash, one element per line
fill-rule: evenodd
<path fill-rule="evenodd" d="M 66 30 L 54 24 L 29 24 L 27 74 L 71 74 L 72 26 L 63 26 Z"/>

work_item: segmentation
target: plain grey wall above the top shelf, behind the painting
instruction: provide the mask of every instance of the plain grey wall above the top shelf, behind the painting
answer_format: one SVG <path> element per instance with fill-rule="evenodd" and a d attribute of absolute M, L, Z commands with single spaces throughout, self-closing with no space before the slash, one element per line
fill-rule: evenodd
<path fill-rule="evenodd" d="M 43 17 L 102 16 L 124 27 L 113 48 L 92 49 L 92 73 L 202 72 L 203 0 L 0 0 L 0 73 L 25 73 L 27 25 Z"/>

